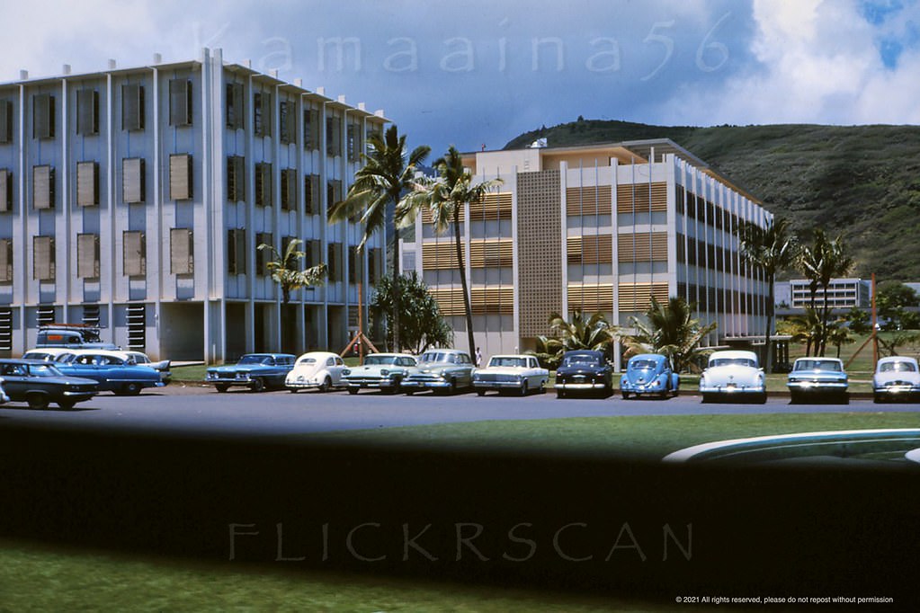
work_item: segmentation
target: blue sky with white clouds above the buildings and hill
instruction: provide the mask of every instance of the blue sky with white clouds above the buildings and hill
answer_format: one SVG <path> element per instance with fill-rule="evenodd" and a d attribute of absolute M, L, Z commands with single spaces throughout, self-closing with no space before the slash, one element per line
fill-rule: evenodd
<path fill-rule="evenodd" d="M 914 0 L 33 0 L 5 15 L 17 27 L 0 81 L 221 48 L 230 62 L 383 108 L 436 154 L 500 148 L 579 115 L 920 123 Z"/>

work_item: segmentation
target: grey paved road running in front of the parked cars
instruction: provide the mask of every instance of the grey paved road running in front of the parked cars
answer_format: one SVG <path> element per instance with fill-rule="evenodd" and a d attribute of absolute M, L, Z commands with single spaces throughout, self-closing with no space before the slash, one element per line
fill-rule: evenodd
<path fill-rule="evenodd" d="M 102 393 L 75 411 L 32 411 L 24 403 L 0 406 L 0 426 L 35 424 L 92 428 L 118 428 L 201 435 L 276 436 L 334 430 L 421 426 L 448 422 L 495 419 L 546 419 L 614 415 L 662 414 L 764 414 L 786 412 L 920 412 L 917 403 L 874 404 L 852 400 L 841 404 L 795 405 L 788 398 L 770 398 L 766 404 L 703 404 L 693 392 L 661 400 L 606 399 L 559 400 L 554 393 L 526 398 L 473 393 L 456 396 L 387 396 L 379 392 L 285 391 L 251 393 L 178 384 L 146 390 L 140 396 Z"/>

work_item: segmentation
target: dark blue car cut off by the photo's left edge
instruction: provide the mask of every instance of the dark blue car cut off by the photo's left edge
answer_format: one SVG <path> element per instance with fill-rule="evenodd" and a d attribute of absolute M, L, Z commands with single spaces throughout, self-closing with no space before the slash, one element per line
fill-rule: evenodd
<path fill-rule="evenodd" d="M 46 409 L 57 403 L 62 409 L 73 409 L 98 392 L 96 380 L 68 377 L 53 363 L 40 359 L 0 359 L 6 401 L 29 403 L 29 408 Z M 6 393 L 4 393 L 6 392 Z"/>

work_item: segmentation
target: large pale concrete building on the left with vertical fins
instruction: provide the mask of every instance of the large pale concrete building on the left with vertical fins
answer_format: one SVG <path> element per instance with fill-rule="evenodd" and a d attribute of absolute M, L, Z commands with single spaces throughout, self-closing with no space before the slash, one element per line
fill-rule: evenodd
<path fill-rule="evenodd" d="M 385 236 L 359 257 L 326 210 L 385 122 L 220 50 L 0 85 L 0 355 L 51 322 L 153 358 L 344 346 Z M 330 275 L 282 304 L 257 245 L 294 238 Z"/>

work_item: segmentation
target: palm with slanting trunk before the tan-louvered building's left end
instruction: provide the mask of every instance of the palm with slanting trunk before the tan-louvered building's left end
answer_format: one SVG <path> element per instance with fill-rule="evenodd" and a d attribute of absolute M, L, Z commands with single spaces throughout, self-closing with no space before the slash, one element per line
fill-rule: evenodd
<path fill-rule="evenodd" d="M 463 220 L 463 210 L 470 202 L 478 202 L 483 199 L 503 181 L 489 179 L 474 184 L 474 177 L 464 168 L 463 158 L 453 145 L 443 157 L 434 161 L 434 168 L 438 171 L 438 179 L 417 182 L 415 191 L 399 203 L 397 210 L 399 210 L 403 226 L 414 222 L 415 214 L 420 209 L 431 210 L 431 221 L 434 223 L 435 232 L 441 234 L 453 226 L 457 266 L 460 268 L 460 285 L 463 289 L 464 311 L 466 312 L 466 337 L 470 356 L 472 356 L 476 342 L 473 340 L 473 310 L 469 303 L 460 223 Z"/>

